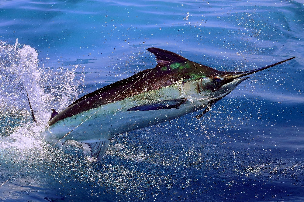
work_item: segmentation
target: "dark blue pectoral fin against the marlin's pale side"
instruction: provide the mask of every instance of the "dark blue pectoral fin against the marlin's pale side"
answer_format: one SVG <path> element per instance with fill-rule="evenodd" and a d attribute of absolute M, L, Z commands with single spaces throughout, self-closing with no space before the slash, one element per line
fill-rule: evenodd
<path fill-rule="evenodd" d="M 149 104 L 143 104 L 136 107 L 132 107 L 127 111 L 149 111 L 158 109 L 173 109 L 178 108 L 185 100 L 175 99 L 175 100 L 163 100 L 159 102 L 152 102 Z"/>

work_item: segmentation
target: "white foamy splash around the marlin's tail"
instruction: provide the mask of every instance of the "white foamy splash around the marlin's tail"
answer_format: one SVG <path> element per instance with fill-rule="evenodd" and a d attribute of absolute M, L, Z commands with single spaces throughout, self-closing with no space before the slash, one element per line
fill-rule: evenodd
<path fill-rule="evenodd" d="M 0 41 L 0 158 L 24 161 L 43 151 L 42 132 L 50 108 L 62 110 L 78 97 L 74 71 L 50 69 L 39 65 L 38 53 L 29 45 Z M 83 78 L 83 77 L 82 77 Z M 50 86 L 50 80 L 52 86 Z M 33 123 L 28 93 L 37 124 Z M 38 153 L 37 153 L 38 152 Z"/>

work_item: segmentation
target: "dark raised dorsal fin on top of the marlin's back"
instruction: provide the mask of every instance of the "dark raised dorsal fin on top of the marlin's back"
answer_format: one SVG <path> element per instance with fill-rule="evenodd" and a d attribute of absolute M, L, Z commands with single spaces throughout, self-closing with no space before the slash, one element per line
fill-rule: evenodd
<path fill-rule="evenodd" d="M 185 62 L 188 61 L 186 58 L 161 48 L 148 48 L 147 51 L 153 53 L 156 57 L 158 65 L 166 65 L 172 62 Z"/>

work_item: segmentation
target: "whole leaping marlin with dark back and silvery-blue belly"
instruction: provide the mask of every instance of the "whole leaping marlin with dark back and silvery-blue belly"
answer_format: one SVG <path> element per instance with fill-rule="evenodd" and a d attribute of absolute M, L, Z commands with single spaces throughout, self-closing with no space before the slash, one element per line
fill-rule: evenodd
<path fill-rule="evenodd" d="M 251 71 L 228 72 L 160 48 L 147 50 L 156 56 L 155 68 L 86 94 L 60 113 L 52 109 L 47 133 L 57 140 L 67 134 L 64 141 L 88 144 L 91 156 L 100 160 L 112 137 L 205 108 L 196 116 L 200 118 L 247 75 L 295 58 Z"/>

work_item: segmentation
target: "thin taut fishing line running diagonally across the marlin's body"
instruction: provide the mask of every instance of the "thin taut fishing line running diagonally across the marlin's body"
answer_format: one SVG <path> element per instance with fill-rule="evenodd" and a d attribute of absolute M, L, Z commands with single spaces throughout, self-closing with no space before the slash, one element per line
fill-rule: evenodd
<path fill-rule="evenodd" d="M 109 101 L 108 103 L 111 103 L 113 100 L 115 100 L 116 98 L 118 98 L 121 94 L 123 94 L 124 92 L 126 92 L 129 88 L 131 88 L 134 84 L 136 84 L 138 81 L 140 81 L 142 78 L 144 78 L 145 76 L 147 76 L 148 74 L 150 74 L 150 72 L 152 72 L 155 68 L 151 69 L 147 74 L 143 75 L 141 78 L 139 78 L 137 81 L 135 81 L 132 85 L 130 85 L 128 88 L 126 88 L 124 91 L 122 91 L 120 94 L 118 94 L 115 98 L 113 98 L 111 101 Z M 105 104 L 107 105 L 107 104 Z M 100 109 L 98 109 L 97 111 L 95 111 L 91 116 L 89 116 L 87 119 L 85 119 L 84 121 L 82 121 L 78 126 L 76 126 L 74 129 L 72 129 L 70 132 L 68 132 L 67 134 L 65 134 L 62 138 L 60 138 L 60 140 L 58 140 L 56 143 L 54 143 L 52 146 L 50 146 L 49 148 L 47 148 L 42 154 L 40 154 L 39 156 L 37 156 L 35 159 L 33 159 L 32 161 L 30 161 L 27 165 L 25 165 L 24 167 L 22 167 L 18 172 L 16 172 L 12 177 L 10 177 L 8 180 L 6 180 L 3 184 L 7 183 L 10 179 L 12 179 L 13 177 L 15 177 L 18 173 L 20 173 L 24 168 L 28 167 L 31 163 L 33 163 L 34 161 L 36 161 L 39 157 L 41 157 L 43 154 L 45 154 L 49 149 L 51 149 L 52 147 L 55 146 L 55 144 L 57 144 L 58 142 L 60 142 L 62 139 L 64 139 L 64 137 L 67 137 L 68 134 L 70 134 L 72 131 L 74 131 L 76 128 L 78 128 L 81 124 L 83 124 L 85 121 L 87 121 L 89 118 L 91 118 L 94 114 L 96 114 L 98 111 L 100 111 L 102 108 L 105 107 L 105 105 L 103 105 Z M 1 184 L 0 187 L 3 185 Z"/>

